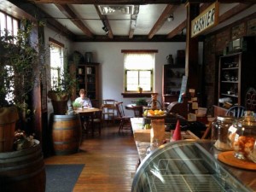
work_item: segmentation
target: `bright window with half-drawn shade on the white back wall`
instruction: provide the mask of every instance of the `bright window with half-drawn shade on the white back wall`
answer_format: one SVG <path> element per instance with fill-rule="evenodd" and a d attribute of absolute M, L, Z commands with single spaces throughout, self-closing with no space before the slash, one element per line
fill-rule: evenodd
<path fill-rule="evenodd" d="M 154 55 L 152 52 L 125 52 L 125 92 L 153 91 Z"/>

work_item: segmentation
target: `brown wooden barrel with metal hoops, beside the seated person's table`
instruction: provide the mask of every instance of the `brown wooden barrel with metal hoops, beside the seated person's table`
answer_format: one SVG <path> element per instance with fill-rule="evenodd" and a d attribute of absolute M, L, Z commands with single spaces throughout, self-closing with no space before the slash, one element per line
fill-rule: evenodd
<path fill-rule="evenodd" d="M 77 153 L 81 139 L 79 114 L 53 115 L 52 140 L 56 155 Z"/>

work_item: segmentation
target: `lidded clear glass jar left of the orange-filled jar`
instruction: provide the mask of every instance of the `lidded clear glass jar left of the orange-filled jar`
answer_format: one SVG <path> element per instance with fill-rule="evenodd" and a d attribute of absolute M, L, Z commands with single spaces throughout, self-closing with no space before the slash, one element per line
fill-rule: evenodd
<path fill-rule="evenodd" d="M 213 124 L 212 139 L 216 139 L 214 147 L 218 150 L 228 151 L 232 150 L 228 140 L 228 132 L 230 125 L 232 125 L 234 118 L 230 116 L 218 116 L 215 126 Z"/>

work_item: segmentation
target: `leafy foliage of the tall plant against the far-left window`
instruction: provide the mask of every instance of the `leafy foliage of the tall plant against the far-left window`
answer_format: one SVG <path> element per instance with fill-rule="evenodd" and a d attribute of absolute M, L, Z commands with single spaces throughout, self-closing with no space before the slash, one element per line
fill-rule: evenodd
<path fill-rule="evenodd" d="M 0 108 L 3 112 L 9 107 L 16 108 L 18 115 L 14 113 L 13 119 L 19 119 L 19 123 L 15 128 L 24 130 L 32 122 L 32 91 L 40 79 L 40 74 L 34 73 L 34 69 L 39 66 L 42 55 L 38 54 L 38 44 L 31 42 L 33 23 L 21 20 L 21 26 L 17 35 L 5 30 L 0 37 Z"/>

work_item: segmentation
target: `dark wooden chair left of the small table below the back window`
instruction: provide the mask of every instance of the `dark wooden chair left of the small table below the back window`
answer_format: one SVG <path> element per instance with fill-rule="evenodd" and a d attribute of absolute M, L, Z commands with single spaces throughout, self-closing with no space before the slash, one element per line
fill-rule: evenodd
<path fill-rule="evenodd" d="M 132 116 L 125 116 L 123 102 L 116 102 L 115 106 L 116 106 L 117 113 L 118 113 L 117 119 L 120 121 L 119 132 L 124 130 L 125 127 L 128 128 L 129 130 L 131 130 Z"/>

